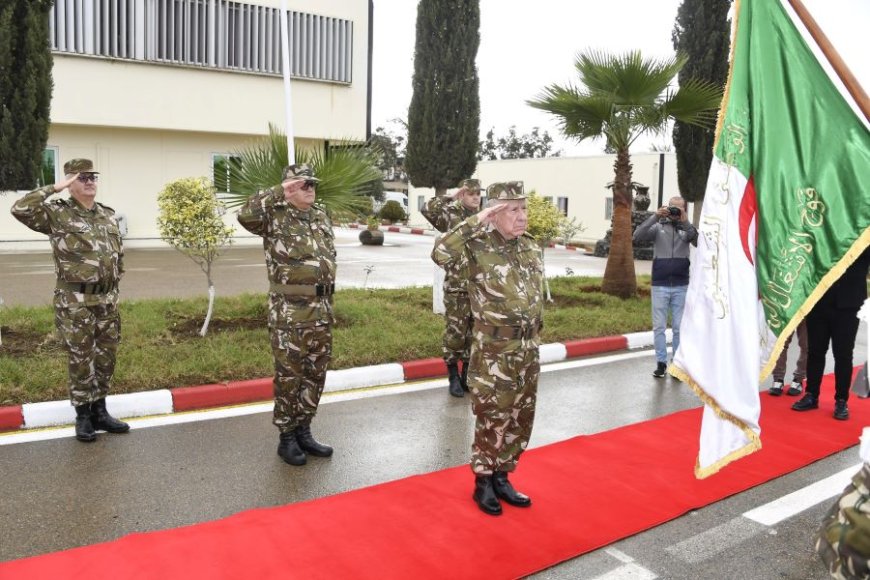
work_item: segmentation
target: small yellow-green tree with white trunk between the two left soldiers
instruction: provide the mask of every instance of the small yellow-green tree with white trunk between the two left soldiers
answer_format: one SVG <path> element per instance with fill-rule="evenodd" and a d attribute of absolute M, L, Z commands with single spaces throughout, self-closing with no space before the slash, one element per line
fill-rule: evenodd
<path fill-rule="evenodd" d="M 199 331 L 200 336 L 205 336 L 214 307 L 212 264 L 224 246 L 232 244 L 233 227 L 221 219 L 224 205 L 215 196 L 215 187 L 204 177 L 167 183 L 157 196 L 157 206 L 160 237 L 193 260 L 208 280 L 208 312 Z"/>

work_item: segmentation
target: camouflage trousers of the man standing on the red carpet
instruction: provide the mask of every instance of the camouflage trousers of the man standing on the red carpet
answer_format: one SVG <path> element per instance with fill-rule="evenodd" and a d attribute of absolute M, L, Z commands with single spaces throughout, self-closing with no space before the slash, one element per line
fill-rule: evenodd
<path fill-rule="evenodd" d="M 535 421 L 540 361 L 537 337 L 494 339 L 474 333 L 468 388 L 476 417 L 471 469 L 513 471 Z"/>

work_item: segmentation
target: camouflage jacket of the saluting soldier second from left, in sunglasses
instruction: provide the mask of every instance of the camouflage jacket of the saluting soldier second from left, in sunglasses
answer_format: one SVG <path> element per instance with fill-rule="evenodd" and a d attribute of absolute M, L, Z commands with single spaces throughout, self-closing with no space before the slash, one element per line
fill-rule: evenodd
<path fill-rule="evenodd" d="M 318 206 L 302 211 L 276 187 L 251 196 L 239 210 L 239 223 L 263 237 L 266 270 L 273 284 L 335 283 L 335 234 L 332 221 Z M 270 293 L 269 325 L 273 328 L 331 323 L 331 296 Z"/>

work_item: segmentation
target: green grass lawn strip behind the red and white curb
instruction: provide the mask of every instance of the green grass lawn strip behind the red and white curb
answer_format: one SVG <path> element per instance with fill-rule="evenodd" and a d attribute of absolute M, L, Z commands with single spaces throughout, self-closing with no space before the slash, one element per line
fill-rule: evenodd
<path fill-rule="evenodd" d="M 600 292 L 600 278 L 550 280 L 542 342 L 650 329 L 649 277 L 638 297 Z M 197 332 L 206 298 L 121 302 L 122 340 L 112 393 L 267 377 L 272 355 L 266 296 L 219 297 L 208 334 Z M 432 289 L 341 290 L 330 368 L 441 356 L 442 318 L 432 313 Z M 51 307 L 4 308 L 0 405 L 67 398 L 66 353 L 54 334 Z"/>

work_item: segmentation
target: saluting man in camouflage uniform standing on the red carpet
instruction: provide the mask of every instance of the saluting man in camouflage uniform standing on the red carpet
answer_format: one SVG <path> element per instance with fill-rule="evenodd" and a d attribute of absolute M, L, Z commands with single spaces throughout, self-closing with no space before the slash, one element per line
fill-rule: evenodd
<path fill-rule="evenodd" d="M 476 417 L 473 498 L 483 512 L 499 515 L 499 500 L 531 505 L 508 473 L 529 443 L 535 418 L 544 268 L 540 246 L 525 233 L 522 182 L 494 183 L 487 195 L 488 207 L 450 230 L 432 259 L 467 273 L 474 317 L 468 374 Z"/>

